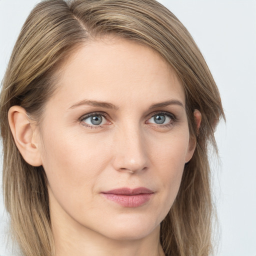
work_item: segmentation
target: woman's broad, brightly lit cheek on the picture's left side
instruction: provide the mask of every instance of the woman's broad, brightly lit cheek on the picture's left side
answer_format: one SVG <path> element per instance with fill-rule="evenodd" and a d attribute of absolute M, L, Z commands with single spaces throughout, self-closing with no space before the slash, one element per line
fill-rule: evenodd
<path fill-rule="evenodd" d="M 47 133 L 43 141 L 43 167 L 56 199 L 73 204 L 81 194 L 89 199 L 109 159 L 105 143 L 68 130 Z"/>

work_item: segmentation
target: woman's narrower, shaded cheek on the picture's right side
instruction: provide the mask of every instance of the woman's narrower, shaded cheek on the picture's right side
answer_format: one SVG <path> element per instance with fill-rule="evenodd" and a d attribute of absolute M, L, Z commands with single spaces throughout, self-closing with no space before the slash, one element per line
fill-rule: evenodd
<path fill-rule="evenodd" d="M 166 137 L 161 143 L 155 143 L 151 151 L 154 179 L 161 184 L 158 214 L 164 218 L 168 213 L 180 186 L 188 150 L 189 133 L 187 129 Z"/>

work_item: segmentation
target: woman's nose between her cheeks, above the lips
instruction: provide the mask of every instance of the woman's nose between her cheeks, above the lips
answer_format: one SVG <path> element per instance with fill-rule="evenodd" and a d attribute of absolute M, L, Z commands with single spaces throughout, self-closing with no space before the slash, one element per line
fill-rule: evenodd
<path fill-rule="evenodd" d="M 135 173 L 148 168 L 143 132 L 134 126 L 120 128 L 115 134 L 113 167 L 117 171 Z"/>

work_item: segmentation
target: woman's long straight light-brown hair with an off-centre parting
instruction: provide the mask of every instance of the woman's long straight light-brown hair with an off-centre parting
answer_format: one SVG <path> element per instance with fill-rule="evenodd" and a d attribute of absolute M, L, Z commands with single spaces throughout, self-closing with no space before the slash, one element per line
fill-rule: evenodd
<path fill-rule="evenodd" d="M 166 255 L 209 255 L 213 214 L 207 147 L 216 148 L 213 132 L 224 113 L 216 84 L 189 32 L 155 0 L 44 0 L 27 17 L 0 96 L 3 193 L 13 239 L 25 256 L 54 255 L 47 179 L 41 166 L 29 165 L 19 153 L 8 125 L 8 109 L 20 105 L 39 122 L 63 59 L 79 44 L 108 33 L 157 51 L 182 81 L 189 132 L 196 139 L 196 148 L 161 223 L 160 240 Z M 199 130 L 194 109 L 202 115 Z"/>

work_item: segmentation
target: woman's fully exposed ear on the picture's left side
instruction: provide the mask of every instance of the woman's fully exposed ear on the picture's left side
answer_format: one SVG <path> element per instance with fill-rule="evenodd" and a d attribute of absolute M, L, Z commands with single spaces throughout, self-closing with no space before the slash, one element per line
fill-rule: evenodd
<path fill-rule="evenodd" d="M 11 106 L 8 121 L 15 144 L 24 160 L 33 166 L 42 165 L 39 149 L 39 136 L 35 125 L 30 123 L 26 110 L 21 106 Z"/>

